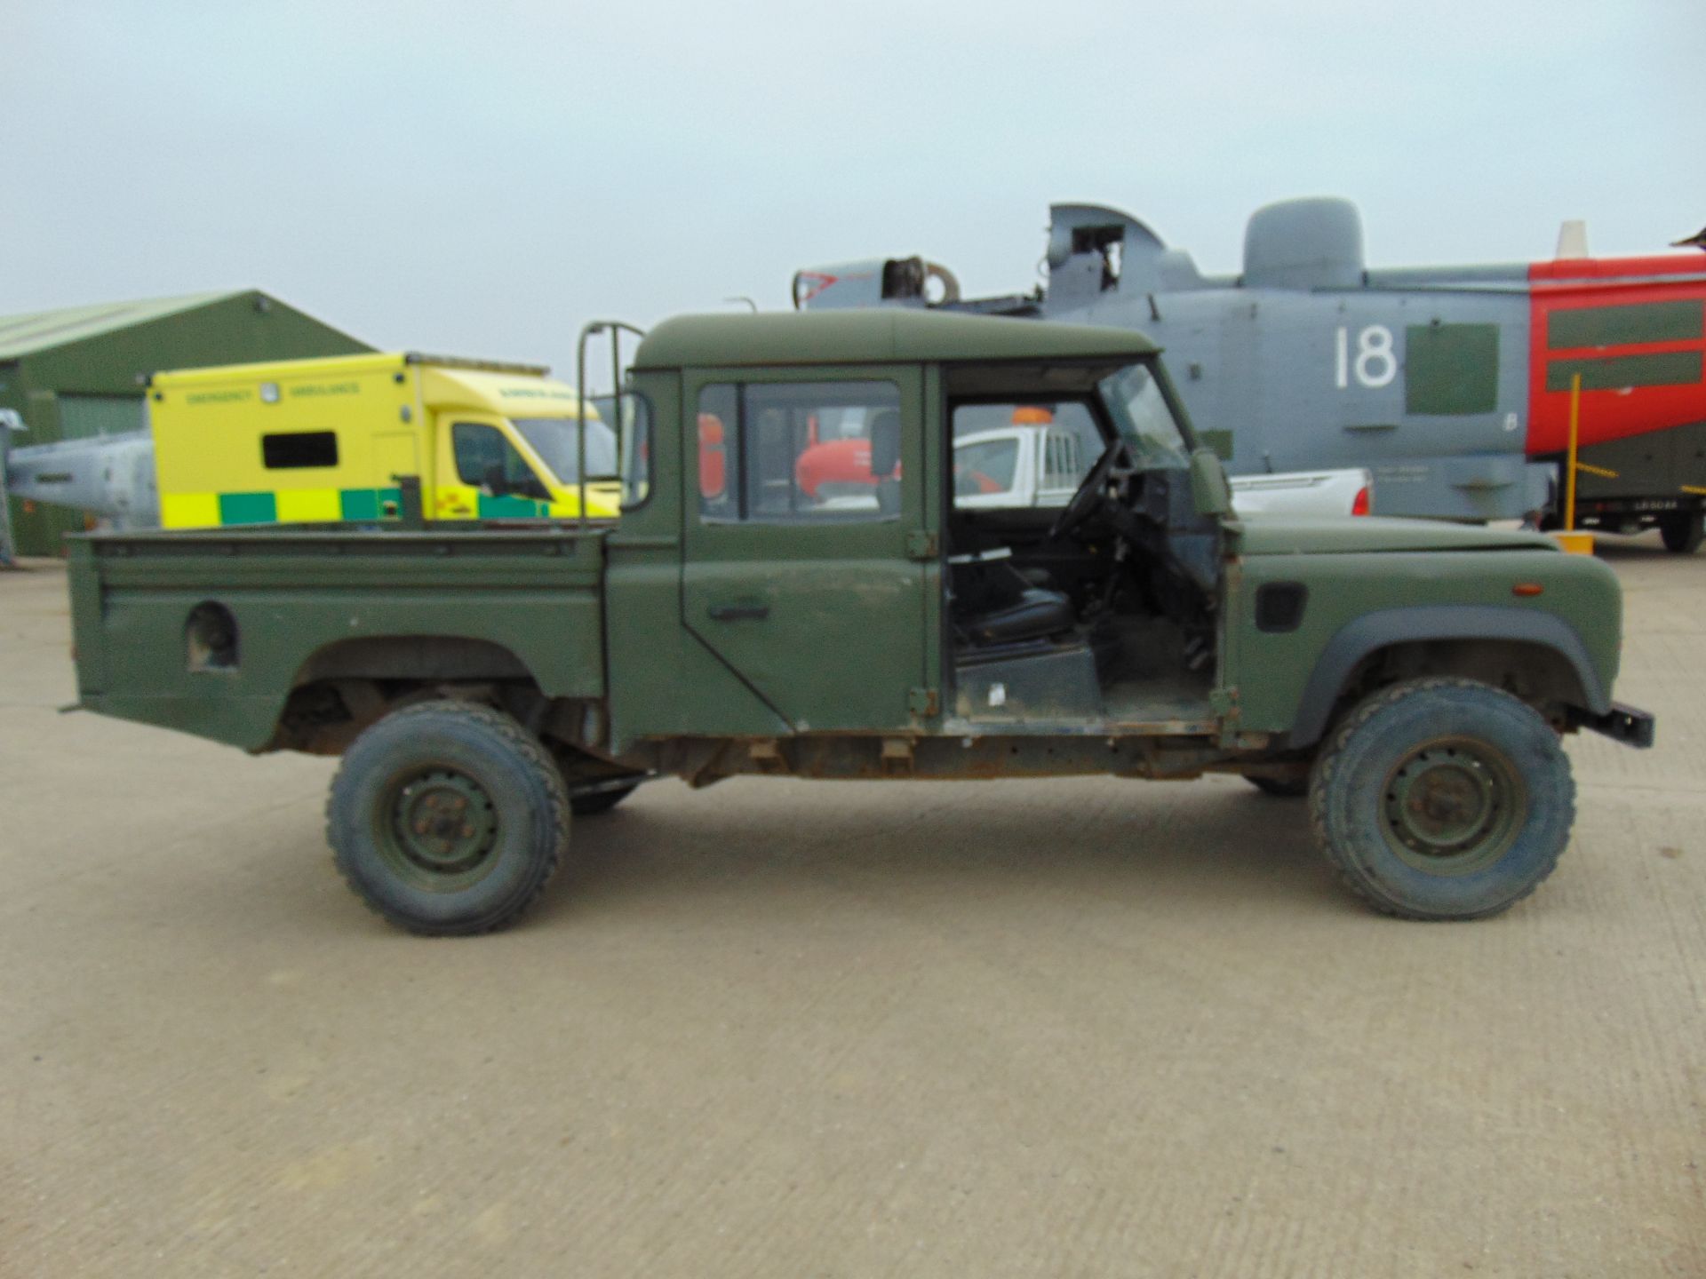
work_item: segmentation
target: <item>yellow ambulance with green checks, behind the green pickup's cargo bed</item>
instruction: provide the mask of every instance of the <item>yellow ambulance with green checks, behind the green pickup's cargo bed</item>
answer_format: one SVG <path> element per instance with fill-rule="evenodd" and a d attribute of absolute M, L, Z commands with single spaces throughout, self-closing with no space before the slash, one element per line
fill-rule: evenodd
<path fill-rule="evenodd" d="M 575 391 L 544 368 L 375 353 L 157 373 L 160 524 L 580 517 Z M 587 406 L 587 517 L 621 501 L 614 431 Z"/>

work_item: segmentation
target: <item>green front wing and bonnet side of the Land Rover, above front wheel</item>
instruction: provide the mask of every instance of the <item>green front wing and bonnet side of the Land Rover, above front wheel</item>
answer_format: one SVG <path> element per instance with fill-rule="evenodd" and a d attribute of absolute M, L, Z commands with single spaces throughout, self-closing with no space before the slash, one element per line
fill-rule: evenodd
<path fill-rule="evenodd" d="M 1240 563 L 1235 602 L 1239 726 L 1319 737 L 1343 677 L 1367 653 L 1426 640 L 1498 640 L 1549 648 L 1602 711 L 1617 675 L 1622 600 L 1609 568 L 1552 551 L 1269 554 Z M 1264 585 L 1305 592 L 1290 629 L 1262 629 Z M 1515 593 L 1523 587 L 1525 593 Z M 1527 593 L 1541 587 L 1541 593 Z M 1607 703 L 1609 704 L 1609 703 Z"/>

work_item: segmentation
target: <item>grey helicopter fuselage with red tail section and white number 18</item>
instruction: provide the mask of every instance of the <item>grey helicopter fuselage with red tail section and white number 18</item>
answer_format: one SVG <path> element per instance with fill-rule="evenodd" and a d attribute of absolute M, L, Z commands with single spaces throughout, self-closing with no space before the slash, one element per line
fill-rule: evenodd
<path fill-rule="evenodd" d="M 1250 218 L 1240 275 L 1204 276 L 1126 213 L 1051 215 L 1047 285 L 1032 293 L 964 300 L 943 268 L 889 259 L 802 271 L 795 305 L 1143 329 L 1230 472 L 1368 467 L 1382 515 L 1556 520 L 1575 397 L 1592 467 L 1580 522 L 1699 525 L 1697 252 L 1370 269 L 1355 205 L 1293 200 Z"/>

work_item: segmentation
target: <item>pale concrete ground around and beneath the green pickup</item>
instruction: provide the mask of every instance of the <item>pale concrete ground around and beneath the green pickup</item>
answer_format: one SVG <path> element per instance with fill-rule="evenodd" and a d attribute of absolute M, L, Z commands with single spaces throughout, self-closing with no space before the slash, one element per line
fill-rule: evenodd
<path fill-rule="evenodd" d="M 1706 556 L 1503 917 L 1368 914 L 1237 779 L 643 790 L 391 931 L 331 762 L 61 716 L 0 573 L 0 1276 L 1703 1276 Z"/>

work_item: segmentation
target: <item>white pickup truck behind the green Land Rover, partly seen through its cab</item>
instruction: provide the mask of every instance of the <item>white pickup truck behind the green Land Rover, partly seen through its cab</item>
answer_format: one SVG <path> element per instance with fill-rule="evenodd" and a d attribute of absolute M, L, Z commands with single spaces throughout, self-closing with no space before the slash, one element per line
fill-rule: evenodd
<path fill-rule="evenodd" d="M 960 435 L 954 440 L 954 505 L 1065 506 L 1092 460 L 1078 433 L 1046 423 Z M 1373 479 L 1360 467 L 1232 477 L 1239 515 L 1368 515 L 1372 496 Z"/>

